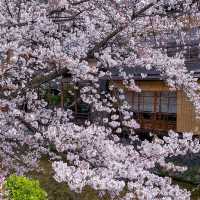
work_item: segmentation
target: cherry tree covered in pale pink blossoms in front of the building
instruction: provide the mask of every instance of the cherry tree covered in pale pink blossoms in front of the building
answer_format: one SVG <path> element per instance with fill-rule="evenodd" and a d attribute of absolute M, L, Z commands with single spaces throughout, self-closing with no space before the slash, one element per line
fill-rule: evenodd
<path fill-rule="evenodd" d="M 124 89 L 118 95 L 114 85 L 100 90 L 101 79 L 112 79 L 117 69 L 124 88 L 140 92 L 124 66 L 155 69 L 171 89 L 185 92 L 198 115 L 200 88 L 184 64 L 184 48 L 174 57 L 164 48 L 169 34 L 184 47 L 188 17 L 199 17 L 198 1 L 1 0 L 2 173 L 37 169 L 48 155 L 55 179 L 76 192 L 91 186 L 100 196 L 126 200 L 190 199 L 188 191 L 153 169 L 184 171 L 166 158 L 199 152 L 199 141 L 191 133 L 179 137 L 173 131 L 163 139 L 141 141 Z M 94 113 L 104 113 L 101 119 L 78 125 L 70 107 L 50 108 L 38 95 L 38 88 L 66 74 L 74 85 L 90 83 L 80 89 L 80 98 Z M 124 127 L 127 143 L 120 139 Z"/>

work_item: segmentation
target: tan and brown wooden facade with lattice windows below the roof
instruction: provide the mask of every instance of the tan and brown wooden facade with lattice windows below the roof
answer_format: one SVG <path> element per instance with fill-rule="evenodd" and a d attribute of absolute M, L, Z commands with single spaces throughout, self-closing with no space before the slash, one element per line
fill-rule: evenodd
<path fill-rule="evenodd" d="M 123 87 L 122 81 L 114 81 L 114 85 L 119 88 Z M 132 104 L 135 111 L 135 118 L 140 123 L 141 128 L 155 132 L 166 132 L 174 130 L 177 132 L 190 132 L 200 135 L 200 120 L 196 118 L 192 103 L 187 99 L 183 91 L 171 91 L 163 81 L 160 80 L 142 80 L 137 81 L 137 85 L 141 88 L 143 96 L 139 100 L 134 101 L 133 91 L 126 89 L 126 98 L 129 104 Z M 151 97 L 145 96 L 151 95 Z M 164 95 L 164 97 L 163 97 Z M 168 95 L 168 96 L 166 96 Z M 137 96 L 137 95 L 136 95 Z M 137 109 L 135 104 L 140 101 L 144 105 L 144 98 L 148 100 L 146 110 Z M 168 102 L 167 110 L 162 99 Z M 159 108 L 161 107 L 161 109 Z M 163 107 L 163 108 L 162 108 Z M 142 110 L 142 111 L 141 111 Z"/>

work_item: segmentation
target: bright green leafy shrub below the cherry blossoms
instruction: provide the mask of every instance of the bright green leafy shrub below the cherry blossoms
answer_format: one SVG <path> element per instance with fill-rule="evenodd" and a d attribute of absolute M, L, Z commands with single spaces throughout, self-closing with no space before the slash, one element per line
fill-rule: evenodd
<path fill-rule="evenodd" d="M 39 181 L 23 176 L 11 175 L 5 182 L 9 200 L 47 200 L 46 192 Z"/>

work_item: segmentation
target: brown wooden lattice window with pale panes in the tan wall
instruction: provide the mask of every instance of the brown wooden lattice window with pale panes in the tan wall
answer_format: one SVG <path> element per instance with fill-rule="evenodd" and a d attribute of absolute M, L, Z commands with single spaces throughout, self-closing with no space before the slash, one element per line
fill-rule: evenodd
<path fill-rule="evenodd" d="M 142 127 L 158 130 L 176 129 L 176 92 L 128 92 L 126 96 L 135 118 Z"/>

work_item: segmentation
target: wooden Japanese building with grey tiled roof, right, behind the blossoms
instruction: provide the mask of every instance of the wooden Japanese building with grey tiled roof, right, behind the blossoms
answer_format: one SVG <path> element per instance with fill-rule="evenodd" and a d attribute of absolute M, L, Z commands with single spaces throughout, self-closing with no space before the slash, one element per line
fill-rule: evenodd
<path fill-rule="evenodd" d="M 177 43 L 177 37 L 174 35 L 168 37 L 163 48 L 167 49 L 168 56 L 174 56 L 178 51 L 185 49 L 185 65 L 188 71 L 193 71 L 194 77 L 200 80 L 199 28 L 188 31 L 182 44 Z M 124 67 L 124 71 L 134 76 L 136 84 L 142 90 L 141 93 L 128 89 L 125 91 L 141 129 L 154 132 L 165 132 L 171 129 L 177 132 L 192 131 L 200 135 L 200 120 L 196 118 L 194 107 L 183 91 L 171 91 L 156 70 Z M 146 77 L 142 78 L 141 74 L 146 74 Z M 113 70 L 112 84 L 114 83 L 117 88 L 123 87 L 122 81 L 119 72 Z"/>

